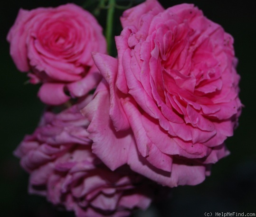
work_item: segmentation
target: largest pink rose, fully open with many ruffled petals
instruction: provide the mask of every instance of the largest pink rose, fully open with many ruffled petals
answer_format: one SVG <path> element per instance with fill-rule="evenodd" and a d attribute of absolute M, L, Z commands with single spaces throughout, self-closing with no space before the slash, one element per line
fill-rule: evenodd
<path fill-rule="evenodd" d="M 192 4 L 147 0 L 121 21 L 118 60 L 94 54 L 105 79 L 83 109 L 94 153 L 163 185 L 198 184 L 228 154 L 241 111 L 233 38 Z"/>

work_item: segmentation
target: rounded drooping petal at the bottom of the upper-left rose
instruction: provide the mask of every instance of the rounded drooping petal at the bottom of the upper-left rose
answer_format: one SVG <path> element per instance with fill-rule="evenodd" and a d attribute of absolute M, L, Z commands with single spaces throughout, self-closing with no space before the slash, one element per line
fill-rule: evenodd
<path fill-rule="evenodd" d="M 64 92 L 65 84 L 45 83 L 39 91 L 38 97 L 48 105 L 61 105 L 70 99 Z"/>

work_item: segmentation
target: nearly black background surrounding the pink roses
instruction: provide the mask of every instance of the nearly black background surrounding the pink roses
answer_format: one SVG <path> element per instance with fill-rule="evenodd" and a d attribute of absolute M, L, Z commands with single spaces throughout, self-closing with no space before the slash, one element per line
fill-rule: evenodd
<path fill-rule="evenodd" d="M 9 56 L 6 35 L 19 8 L 57 7 L 67 0 L 8 0 L 0 3 L 0 216 L 67 217 L 45 198 L 28 195 L 28 174 L 12 152 L 25 134 L 38 124 L 43 104 L 36 97 L 38 86 L 24 84 L 26 74 L 17 71 Z M 82 5 L 82 0 L 69 1 Z M 256 213 L 256 7 L 250 0 L 169 0 L 164 7 L 194 3 L 205 16 L 219 23 L 235 39 L 237 72 L 241 75 L 240 98 L 245 105 L 235 135 L 226 144 L 231 154 L 213 165 L 212 174 L 198 186 L 180 186 L 170 199 L 153 204 L 134 217 L 203 217 L 205 212 Z M 122 11 L 118 11 L 119 16 Z M 104 25 L 104 11 L 99 18 Z M 120 32 L 115 19 L 115 35 Z"/>

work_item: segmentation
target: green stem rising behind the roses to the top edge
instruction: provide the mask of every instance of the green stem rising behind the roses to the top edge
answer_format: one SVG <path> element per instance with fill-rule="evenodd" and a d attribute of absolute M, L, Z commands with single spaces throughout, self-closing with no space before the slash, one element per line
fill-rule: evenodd
<path fill-rule="evenodd" d="M 113 20 L 114 20 L 115 0 L 109 0 L 106 20 L 106 40 L 108 54 L 112 54 L 112 40 L 113 40 Z"/>

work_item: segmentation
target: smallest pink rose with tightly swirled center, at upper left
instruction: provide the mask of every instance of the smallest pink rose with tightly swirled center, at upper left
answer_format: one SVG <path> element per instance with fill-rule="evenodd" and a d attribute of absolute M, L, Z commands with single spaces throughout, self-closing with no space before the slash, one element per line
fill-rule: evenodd
<path fill-rule="evenodd" d="M 81 97 L 101 79 L 91 52 L 106 53 L 102 27 L 75 4 L 20 9 L 7 40 L 17 68 L 28 72 L 31 83 L 43 83 L 38 96 L 47 104 Z"/>

